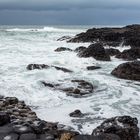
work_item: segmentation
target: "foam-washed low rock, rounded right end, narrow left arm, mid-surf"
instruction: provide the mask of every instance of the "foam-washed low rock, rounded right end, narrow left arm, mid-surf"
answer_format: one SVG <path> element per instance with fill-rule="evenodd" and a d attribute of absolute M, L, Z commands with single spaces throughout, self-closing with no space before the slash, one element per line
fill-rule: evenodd
<path fill-rule="evenodd" d="M 54 90 L 63 91 L 68 96 L 81 97 L 83 95 L 92 93 L 94 90 L 94 86 L 84 80 L 71 80 L 68 83 L 71 85 L 70 87 L 65 87 L 65 83 L 54 84 L 42 81 L 44 86 L 53 88 Z"/>

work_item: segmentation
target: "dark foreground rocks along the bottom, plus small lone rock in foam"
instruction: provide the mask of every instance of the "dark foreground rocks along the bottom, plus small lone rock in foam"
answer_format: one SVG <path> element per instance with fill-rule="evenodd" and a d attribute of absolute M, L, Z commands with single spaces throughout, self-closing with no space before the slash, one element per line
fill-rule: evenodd
<path fill-rule="evenodd" d="M 82 113 L 70 113 L 79 117 Z M 58 123 L 40 120 L 24 101 L 0 97 L 0 140 L 139 140 L 136 118 L 106 119 L 91 135 L 82 135 Z"/>

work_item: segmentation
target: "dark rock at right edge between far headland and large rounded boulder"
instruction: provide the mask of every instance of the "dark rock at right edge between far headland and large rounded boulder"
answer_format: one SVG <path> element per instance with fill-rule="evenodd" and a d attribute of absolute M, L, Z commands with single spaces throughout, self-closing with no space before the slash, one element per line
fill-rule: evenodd
<path fill-rule="evenodd" d="M 140 48 L 124 50 L 122 53 L 116 56 L 117 58 L 125 60 L 135 60 L 140 58 Z"/>

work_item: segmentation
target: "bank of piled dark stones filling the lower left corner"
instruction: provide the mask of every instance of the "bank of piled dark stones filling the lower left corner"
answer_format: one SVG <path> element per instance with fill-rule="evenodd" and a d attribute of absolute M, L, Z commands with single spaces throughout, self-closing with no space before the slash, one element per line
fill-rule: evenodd
<path fill-rule="evenodd" d="M 78 134 L 63 128 L 40 120 L 24 101 L 0 99 L 0 140 L 55 140 L 65 132 Z"/>

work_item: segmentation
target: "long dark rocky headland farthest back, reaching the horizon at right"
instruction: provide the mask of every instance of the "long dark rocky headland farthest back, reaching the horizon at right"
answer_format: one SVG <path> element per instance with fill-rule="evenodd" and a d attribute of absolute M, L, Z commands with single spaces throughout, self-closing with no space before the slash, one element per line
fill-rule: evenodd
<path fill-rule="evenodd" d="M 108 46 L 140 46 L 140 25 L 129 25 L 122 28 L 92 28 L 77 34 L 68 42 L 102 42 Z"/>

